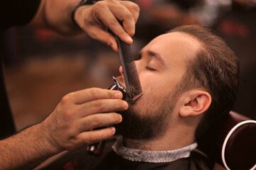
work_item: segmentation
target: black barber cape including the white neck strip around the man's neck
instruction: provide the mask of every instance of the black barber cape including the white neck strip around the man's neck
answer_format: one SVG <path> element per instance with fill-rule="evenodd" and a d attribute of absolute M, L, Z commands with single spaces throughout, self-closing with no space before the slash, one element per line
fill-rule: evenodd
<path fill-rule="evenodd" d="M 123 146 L 121 137 L 111 137 L 100 157 L 87 153 L 87 147 L 69 152 L 44 169 L 65 170 L 148 170 L 209 169 L 206 158 L 194 152 L 196 143 L 170 151 L 143 151 Z"/>

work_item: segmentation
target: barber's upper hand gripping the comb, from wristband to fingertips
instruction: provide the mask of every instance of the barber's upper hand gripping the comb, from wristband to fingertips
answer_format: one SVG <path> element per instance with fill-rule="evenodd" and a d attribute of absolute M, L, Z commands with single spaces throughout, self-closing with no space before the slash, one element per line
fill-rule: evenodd
<path fill-rule="evenodd" d="M 74 15 L 75 21 L 91 38 L 104 42 L 118 51 L 115 38 L 107 28 L 128 44 L 135 33 L 140 8 L 130 1 L 105 0 L 93 6 L 80 6 Z M 118 20 L 123 22 L 123 28 Z"/>

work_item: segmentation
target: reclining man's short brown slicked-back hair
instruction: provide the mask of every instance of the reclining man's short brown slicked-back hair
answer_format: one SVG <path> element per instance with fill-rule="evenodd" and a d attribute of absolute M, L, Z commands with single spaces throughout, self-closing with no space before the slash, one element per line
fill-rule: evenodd
<path fill-rule="evenodd" d="M 239 84 L 239 62 L 234 52 L 210 30 L 202 26 L 179 26 L 168 33 L 186 33 L 200 42 L 196 56 L 187 60 L 187 74 L 178 91 L 203 87 L 212 101 L 195 131 L 196 140 L 218 125 L 233 108 Z"/>

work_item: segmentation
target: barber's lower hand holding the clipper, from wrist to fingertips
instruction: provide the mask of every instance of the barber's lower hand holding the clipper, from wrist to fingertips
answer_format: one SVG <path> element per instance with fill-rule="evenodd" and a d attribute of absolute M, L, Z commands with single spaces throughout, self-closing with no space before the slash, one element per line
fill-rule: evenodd
<path fill-rule="evenodd" d="M 91 129 L 121 123 L 121 115 L 115 112 L 128 108 L 122 97 L 121 91 L 98 88 L 67 94 L 42 123 L 47 141 L 60 152 L 106 140 L 115 128 Z"/>

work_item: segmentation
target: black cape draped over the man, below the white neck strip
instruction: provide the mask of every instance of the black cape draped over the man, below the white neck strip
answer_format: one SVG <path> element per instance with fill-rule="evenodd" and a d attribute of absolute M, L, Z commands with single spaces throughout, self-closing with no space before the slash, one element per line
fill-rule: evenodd
<path fill-rule="evenodd" d="M 174 162 L 165 163 L 147 163 L 147 162 L 132 162 L 119 157 L 116 152 L 113 152 L 111 146 L 115 142 L 114 138 L 106 142 L 101 157 L 89 155 L 86 147 L 77 152 L 69 152 L 65 156 L 57 159 L 57 161 L 46 166 L 44 169 L 65 169 L 65 170 L 200 170 L 209 169 L 206 157 L 198 152 L 191 152 L 188 158 L 177 159 Z"/>

